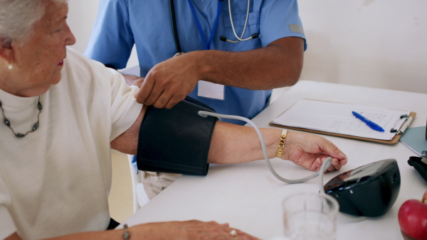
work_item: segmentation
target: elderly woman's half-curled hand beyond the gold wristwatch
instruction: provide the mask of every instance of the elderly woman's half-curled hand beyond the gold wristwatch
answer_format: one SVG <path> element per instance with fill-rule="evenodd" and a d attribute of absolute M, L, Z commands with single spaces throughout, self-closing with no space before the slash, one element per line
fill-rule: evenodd
<path fill-rule="evenodd" d="M 347 156 L 322 136 L 288 131 L 282 159 L 291 160 L 308 170 L 318 171 L 327 157 L 332 158 L 328 171 L 339 170 L 347 163 Z"/>

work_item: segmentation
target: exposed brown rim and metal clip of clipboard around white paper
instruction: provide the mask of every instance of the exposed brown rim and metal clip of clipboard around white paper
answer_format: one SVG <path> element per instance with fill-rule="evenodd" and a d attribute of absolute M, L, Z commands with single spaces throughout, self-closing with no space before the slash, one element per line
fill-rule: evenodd
<path fill-rule="evenodd" d="M 304 99 L 304 100 L 309 100 L 309 99 Z M 319 100 L 309 100 L 309 101 L 324 102 L 324 101 L 319 101 Z M 330 102 L 325 102 L 325 103 L 330 103 Z M 339 104 L 339 103 L 332 103 L 332 104 Z M 348 104 L 348 106 L 352 107 L 353 105 Z M 290 107 L 289 109 L 291 109 L 292 107 Z M 282 116 L 283 114 L 285 114 L 285 112 L 288 111 L 289 109 L 286 109 L 285 111 L 283 111 L 283 113 L 280 114 L 279 116 Z M 385 109 L 385 110 L 392 111 L 391 109 Z M 411 122 L 415 116 L 416 116 L 416 112 L 413 112 L 413 111 L 410 111 L 410 113 L 407 114 L 407 116 L 404 116 L 404 118 L 405 118 L 404 122 L 401 124 L 399 129 L 396 129 L 397 131 L 396 131 L 395 135 L 393 136 L 393 138 L 391 138 L 391 140 L 367 138 L 367 137 L 361 137 L 361 136 L 352 136 L 352 135 L 347 135 L 347 134 L 342 134 L 342 133 L 333 133 L 333 132 L 329 132 L 329 131 L 319 131 L 319 130 L 307 129 L 307 128 L 302 128 L 302 127 L 287 126 L 286 124 L 275 124 L 273 121 L 271 121 L 269 125 L 279 127 L 282 129 L 293 129 L 293 130 L 298 130 L 298 131 L 307 131 L 310 133 L 320 133 L 320 134 L 325 134 L 325 135 L 330 135 L 330 136 L 338 136 L 338 137 L 343 137 L 343 138 L 352 138 L 352 139 L 358 139 L 358 140 L 362 140 L 362 141 L 371 141 L 371 142 L 375 142 L 375 143 L 384 143 L 384 144 L 393 145 L 393 144 L 396 144 L 397 142 L 399 142 L 399 139 L 401 138 L 401 136 L 403 135 L 405 130 L 408 128 L 408 126 L 411 124 Z M 401 116 L 401 119 L 402 119 L 402 116 Z M 393 128 L 391 128 L 391 129 L 393 129 Z M 391 131 L 391 129 L 387 129 L 386 131 Z"/>

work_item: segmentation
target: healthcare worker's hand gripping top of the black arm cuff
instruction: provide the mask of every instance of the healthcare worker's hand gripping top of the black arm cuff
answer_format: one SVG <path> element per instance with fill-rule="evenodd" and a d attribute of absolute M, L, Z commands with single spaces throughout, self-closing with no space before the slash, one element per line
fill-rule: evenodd
<path fill-rule="evenodd" d="M 199 63 L 194 54 L 186 53 L 152 67 L 137 94 L 137 102 L 170 109 L 185 99 L 199 77 Z"/>

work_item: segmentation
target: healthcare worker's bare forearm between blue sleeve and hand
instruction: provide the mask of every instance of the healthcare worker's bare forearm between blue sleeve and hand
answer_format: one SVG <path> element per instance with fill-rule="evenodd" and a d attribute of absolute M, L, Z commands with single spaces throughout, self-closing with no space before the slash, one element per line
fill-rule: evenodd
<path fill-rule="evenodd" d="M 200 80 L 246 89 L 273 89 L 299 80 L 303 53 L 302 38 L 289 37 L 255 50 L 207 50 L 189 55 L 198 62 Z"/>

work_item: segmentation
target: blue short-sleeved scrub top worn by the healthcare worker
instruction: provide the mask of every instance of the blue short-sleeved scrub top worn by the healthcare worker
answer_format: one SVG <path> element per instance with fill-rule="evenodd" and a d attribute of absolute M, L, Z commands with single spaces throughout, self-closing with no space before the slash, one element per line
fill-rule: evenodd
<path fill-rule="evenodd" d="M 216 14 L 218 1 L 191 0 L 201 28 L 209 40 Z M 246 20 L 247 1 L 232 1 L 233 23 L 238 36 L 243 31 Z M 188 1 L 174 1 L 176 28 L 181 50 L 185 53 L 203 50 L 204 45 L 197 30 L 196 21 Z M 228 1 L 223 1 L 218 27 L 214 33 L 211 49 L 225 51 L 244 51 L 262 48 L 274 40 L 288 36 L 305 39 L 302 23 L 298 16 L 296 0 L 252 0 L 245 36 L 253 33 L 259 37 L 239 43 L 219 40 L 226 36 L 236 40 L 228 14 Z M 176 53 L 169 1 L 166 0 L 102 0 L 95 21 L 92 36 L 85 55 L 116 69 L 126 67 L 135 44 L 140 75 L 144 77 L 157 63 L 172 58 Z M 306 48 L 306 44 L 305 44 Z M 190 97 L 204 102 L 220 114 L 245 116 L 252 119 L 268 106 L 271 90 L 248 90 L 239 87 L 225 87 L 225 99 L 209 99 L 197 96 L 196 87 Z M 243 121 L 221 119 L 234 124 Z"/>

